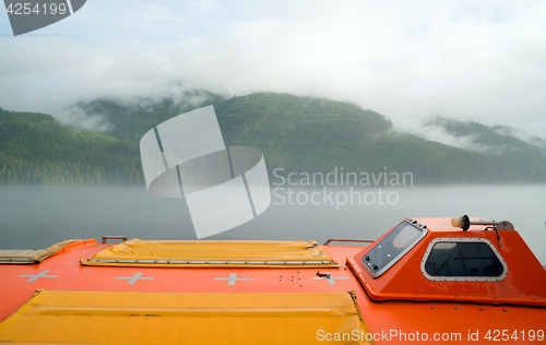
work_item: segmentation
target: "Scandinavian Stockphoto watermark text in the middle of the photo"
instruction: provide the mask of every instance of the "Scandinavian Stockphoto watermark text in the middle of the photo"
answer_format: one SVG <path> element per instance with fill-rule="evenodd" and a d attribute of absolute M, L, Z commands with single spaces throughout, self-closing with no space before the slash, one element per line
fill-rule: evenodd
<path fill-rule="evenodd" d="M 345 171 L 334 167 L 324 172 L 288 172 L 273 170 L 273 204 L 275 205 L 396 205 L 400 195 L 394 187 L 413 186 L 412 172 Z"/>

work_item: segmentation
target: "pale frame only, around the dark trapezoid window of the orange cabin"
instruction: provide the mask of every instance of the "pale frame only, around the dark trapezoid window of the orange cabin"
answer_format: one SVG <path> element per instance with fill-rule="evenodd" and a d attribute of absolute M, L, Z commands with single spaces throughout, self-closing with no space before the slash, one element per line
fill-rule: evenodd
<path fill-rule="evenodd" d="M 428 257 L 430 255 L 430 252 L 432 251 L 432 248 L 435 247 L 436 243 L 439 242 L 447 242 L 447 243 L 452 243 L 452 242 L 479 242 L 479 243 L 486 243 L 489 246 L 491 249 L 492 253 L 497 257 L 497 259 L 500 261 L 502 264 L 502 274 L 499 276 L 432 276 L 427 273 L 427 270 L 425 270 L 425 264 L 428 260 Z M 485 238 L 435 238 L 434 240 L 430 241 L 428 245 L 427 251 L 425 252 L 425 255 L 423 257 L 423 260 L 420 261 L 420 272 L 423 275 L 432 282 L 500 282 L 503 278 L 506 278 L 508 274 L 508 266 L 500 255 L 499 251 L 497 248 L 489 241 L 488 239 Z"/>

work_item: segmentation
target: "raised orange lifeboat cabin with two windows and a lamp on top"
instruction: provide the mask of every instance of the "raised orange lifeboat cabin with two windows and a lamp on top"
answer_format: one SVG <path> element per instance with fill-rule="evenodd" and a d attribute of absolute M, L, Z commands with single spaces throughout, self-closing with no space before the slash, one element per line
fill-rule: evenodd
<path fill-rule="evenodd" d="M 546 307 L 546 271 L 510 222 L 405 219 L 347 258 L 376 301 Z"/>

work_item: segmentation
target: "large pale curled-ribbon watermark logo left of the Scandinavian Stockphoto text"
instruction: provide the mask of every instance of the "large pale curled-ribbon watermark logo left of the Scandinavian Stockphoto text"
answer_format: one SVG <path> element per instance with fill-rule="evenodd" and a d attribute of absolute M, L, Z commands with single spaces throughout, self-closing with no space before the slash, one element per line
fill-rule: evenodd
<path fill-rule="evenodd" d="M 260 150 L 226 147 L 213 106 L 192 110 L 147 131 L 140 141 L 150 193 L 183 198 L 198 238 L 245 224 L 271 203 Z"/>

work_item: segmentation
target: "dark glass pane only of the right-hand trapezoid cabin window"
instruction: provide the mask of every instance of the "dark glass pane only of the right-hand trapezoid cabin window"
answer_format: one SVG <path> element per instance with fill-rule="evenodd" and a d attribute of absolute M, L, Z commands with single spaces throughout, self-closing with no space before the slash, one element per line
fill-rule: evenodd
<path fill-rule="evenodd" d="M 487 243 L 483 242 L 438 242 L 425 270 L 431 276 L 482 276 L 502 275 L 502 264 Z"/>

